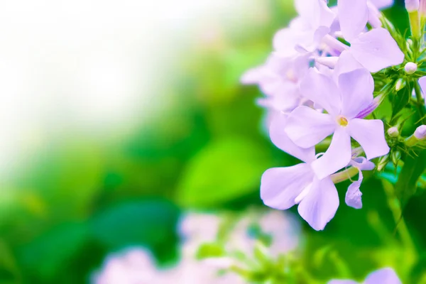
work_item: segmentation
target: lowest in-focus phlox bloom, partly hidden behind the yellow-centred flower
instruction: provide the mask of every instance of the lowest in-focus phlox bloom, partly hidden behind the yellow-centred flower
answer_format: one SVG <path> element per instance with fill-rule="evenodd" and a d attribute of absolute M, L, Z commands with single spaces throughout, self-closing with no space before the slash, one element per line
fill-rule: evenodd
<path fill-rule="evenodd" d="M 311 168 L 315 148 L 300 148 L 283 132 L 287 116 L 275 117 L 271 124 L 271 140 L 281 150 L 294 155 L 303 163 L 285 168 L 270 168 L 262 175 L 261 198 L 275 209 L 288 209 L 299 204 L 300 216 L 315 230 L 324 229 L 336 214 L 339 195 L 331 178 L 316 177 Z"/>

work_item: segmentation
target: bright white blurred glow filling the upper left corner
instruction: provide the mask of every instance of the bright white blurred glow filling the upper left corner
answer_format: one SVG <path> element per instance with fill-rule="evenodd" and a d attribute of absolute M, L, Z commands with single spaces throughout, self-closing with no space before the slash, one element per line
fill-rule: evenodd
<path fill-rule="evenodd" d="M 249 2 L 1 1 L 0 175 L 17 154 L 73 129 L 108 133 L 149 119 L 179 35 Z"/>

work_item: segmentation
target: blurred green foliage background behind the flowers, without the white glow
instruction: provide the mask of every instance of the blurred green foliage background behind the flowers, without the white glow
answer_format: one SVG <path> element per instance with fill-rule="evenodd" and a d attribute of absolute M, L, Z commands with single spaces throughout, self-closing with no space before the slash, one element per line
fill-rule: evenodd
<path fill-rule="evenodd" d="M 404 31 L 402 2 L 386 15 Z M 262 207 L 263 171 L 295 159 L 269 141 L 255 103 L 261 93 L 239 77 L 266 59 L 273 34 L 294 15 L 292 1 L 251 1 L 169 33 L 173 54 L 156 55 L 165 67 L 154 80 L 155 111 L 148 102 L 148 113 L 102 136 L 64 131 L 21 159 L 1 182 L 0 283 L 86 283 L 108 253 L 131 245 L 170 263 L 185 210 Z M 341 201 L 348 185 L 338 186 Z M 370 178 L 361 190 L 364 208 L 341 202 L 324 231 L 302 222 L 302 261 L 324 281 L 339 261 L 354 278 L 378 266 L 404 271 L 408 256 L 381 182 Z M 419 193 L 405 212 L 421 255 L 411 279 L 426 266 L 425 204 Z"/>

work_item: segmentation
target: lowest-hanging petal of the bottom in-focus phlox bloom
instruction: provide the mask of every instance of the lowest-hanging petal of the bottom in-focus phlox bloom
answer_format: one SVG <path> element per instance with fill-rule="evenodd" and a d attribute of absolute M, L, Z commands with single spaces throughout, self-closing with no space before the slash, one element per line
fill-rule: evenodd
<path fill-rule="evenodd" d="M 323 230 L 339 207 L 339 195 L 330 178 L 315 178 L 310 192 L 300 202 L 297 211 L 313 229 Z"/>

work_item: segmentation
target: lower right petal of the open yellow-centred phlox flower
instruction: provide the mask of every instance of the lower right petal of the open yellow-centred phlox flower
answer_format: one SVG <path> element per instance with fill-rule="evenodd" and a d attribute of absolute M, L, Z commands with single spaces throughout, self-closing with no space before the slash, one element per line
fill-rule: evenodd
<path fill-rule="evenodd" d="M 348 128 L 351 137 L 364 149 L 368 160 L 389 153 L 383 121 L 379 119 L 352 119 Z"/>

